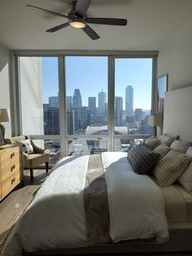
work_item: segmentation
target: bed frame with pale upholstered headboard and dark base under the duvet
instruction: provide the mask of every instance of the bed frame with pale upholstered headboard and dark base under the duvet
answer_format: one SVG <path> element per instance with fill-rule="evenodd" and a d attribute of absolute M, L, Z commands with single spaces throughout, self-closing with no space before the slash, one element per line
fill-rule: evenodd
<path fill-rule="evenodd" d="M 165 93 L 164 133 L 192 141 L 192 86 Z M 111 254 L 192 251 L 192 223 L 168 223 L 170 239 L 164 244 L 117 243 L 78 249 L 41 251 L 24 255 Z"/>

